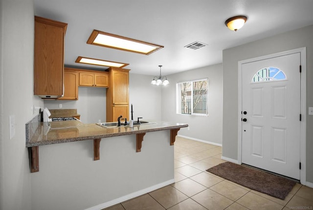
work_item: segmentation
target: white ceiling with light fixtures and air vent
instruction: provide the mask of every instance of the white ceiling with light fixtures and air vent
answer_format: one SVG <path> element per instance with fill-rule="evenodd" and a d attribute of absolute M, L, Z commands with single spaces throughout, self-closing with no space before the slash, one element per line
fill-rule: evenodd
<path fill-rule="evenodd" d="M 129 63 L 131 73 L 168 75 L 222 63 L 224 49 L 313 24 L 313 0 L 34 0 L 35 15 L 68 23 L 65 65 L 78 56 Z M 224 21 L 245 15 L 237 32 Z M 163 45 L 142 55 L 87 44 L 93 29 Z M 208 44 L 197 50 L 192 42 Z"/>

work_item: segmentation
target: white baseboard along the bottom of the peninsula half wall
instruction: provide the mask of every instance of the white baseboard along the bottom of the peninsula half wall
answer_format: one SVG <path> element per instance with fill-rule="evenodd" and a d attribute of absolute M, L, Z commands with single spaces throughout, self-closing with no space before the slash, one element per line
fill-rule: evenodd
<path fill-rule="evenodd" d="M 163 187 L 171 185 L 173 183 L 175 183 L 175 179 L 171 179 L 171 180 L 168 180 L 166 182 L 159 183 L 157 185 L 151 186 L 151 187 L 146 188 L 146 189 L 141 189 L 141 190 L 133 192 L 131 194 L 124 195 L 122 197 L 116 198 L 116 199 L 114 199 L 112 201 L 108 201 L 106 203 L 102 203 L 102 204 L 99 204 L 97 206 L 90 207 L 90 208 L 88 208 L 86 210 L 102 210 L 104 208 L 111 207 L 111 206 L 113 206 L 115 204 L 122 203 L 124 201 L 129 200 L 129 199 L 135 198 L 137 196 L 143 195 L 145 193 L 151 192 L 151 191 L 159 189 L 159 188 L 163 188 Z"/>

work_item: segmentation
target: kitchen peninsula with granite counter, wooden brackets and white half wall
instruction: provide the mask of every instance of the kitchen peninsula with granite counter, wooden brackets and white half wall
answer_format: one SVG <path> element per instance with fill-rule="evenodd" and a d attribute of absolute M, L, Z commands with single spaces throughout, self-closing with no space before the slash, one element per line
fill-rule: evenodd
<path fill-rule="evenodd" d="M 51 189 L 34 196 L 55 209 L 88 210 L 103 209 L 174 183 L 171 145 L 179 129 L 188 126 L 156 122 L 105 128 L 78 120 L 49 125 L 29 122 L 26 129 L 30 137 L 26 147 L 35 151 L 30 153 L 30 165 L 36 167 L 40 162 L 40 170 L 32 173 L 34 192 Z M 84 199 L 86 206 L 75 206 L 77 199 Z"/>

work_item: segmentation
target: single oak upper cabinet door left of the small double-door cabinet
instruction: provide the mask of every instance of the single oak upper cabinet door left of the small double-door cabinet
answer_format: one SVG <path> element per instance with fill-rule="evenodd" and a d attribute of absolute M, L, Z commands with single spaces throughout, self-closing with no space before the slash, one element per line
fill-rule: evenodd
<path fill-rule="evenodd" d="M 59 100 L 78 100 L 78 73 L 64 71 L 64 96 Z"/>

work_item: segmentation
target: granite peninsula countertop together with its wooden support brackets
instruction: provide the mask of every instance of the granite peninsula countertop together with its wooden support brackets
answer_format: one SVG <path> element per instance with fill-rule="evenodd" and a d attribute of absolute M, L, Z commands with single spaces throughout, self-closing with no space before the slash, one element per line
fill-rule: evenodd
<path fill-rule="evenodd" d="M 31 172 L 37 172 L 38 166 L 38 146 L 68 143 L 75 141 L 93 140 L 94 141 L 94 160 L 100 159 L 99 147 L 102 138 L 136 135 L 136 151 L 141 151 L 143 137 L 147 132 L 170 130 L 170 146 L 174 145 L 175 137 L 181 127 L 186 124 L 158 122 L 152 124 L 129 126 L 103 127 L 97 124 L 83 124 L 81 121 L 56 121 L 41 122 L 32 135 L 31 139 L 26 139 L 26 147 L 30 147 Z M 157 140 L 156 140 L 157 141 Z M 35 165 L 34 165 L 35 164 Z"/>

